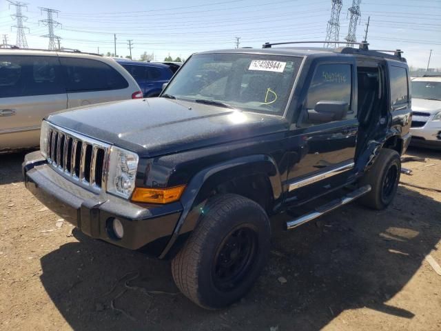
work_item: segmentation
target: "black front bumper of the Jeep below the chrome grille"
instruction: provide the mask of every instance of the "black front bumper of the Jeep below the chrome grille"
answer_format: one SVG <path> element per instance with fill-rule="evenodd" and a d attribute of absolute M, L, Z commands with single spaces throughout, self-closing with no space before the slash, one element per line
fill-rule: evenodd
<path fill-rule="evenodd" d="M 179 202 L 146 205 L 96 194 L 68 181 L 43 159 L 39 151 L 25 156 L 25 185 L 41 203 L 88 236 L 114 245 L 159 256 L 169 241 L 182 212 Z M 112 219 L 123 224 L 124 236 L 115 239 L 109 229 Z"/>

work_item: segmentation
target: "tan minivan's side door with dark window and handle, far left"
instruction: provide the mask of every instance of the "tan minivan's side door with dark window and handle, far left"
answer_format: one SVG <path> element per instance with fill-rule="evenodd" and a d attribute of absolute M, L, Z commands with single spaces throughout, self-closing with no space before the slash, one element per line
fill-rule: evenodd
<path fill-rule="evenodd" d="M 1 54 L 0 150 L 39 146 L 41 120 L 67 101 L 56 54 Z"/>

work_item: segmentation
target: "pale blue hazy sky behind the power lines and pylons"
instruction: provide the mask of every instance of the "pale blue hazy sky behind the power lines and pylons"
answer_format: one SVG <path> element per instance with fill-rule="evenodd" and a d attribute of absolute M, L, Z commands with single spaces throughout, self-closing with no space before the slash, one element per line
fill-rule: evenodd
<path fill-rule="evenodd" d="M 331 0 L 23 0 L 28 3 L 25 26 L 30 48 L 47 48 L 40 37 L 48 28 L 39 7 L 59 10 L 54 18 L 62 26 L 55 29 L 61 46 L 85 52 L 116 52 L 127 55 L 127 39 L 133 39 L 133 57 L 154 52 L 156 59 L 188 57 L 193 52 L 240 47 L 259 48 L 265 41 L 324 40 L 331 14 Z M 344 0 L 340 14 L 340 40 L 347 35 L 347 9 Z M 0 34 L 15 43 L 16 30 L 6 0 L 0 0 Z M 365 34 L 371 17 L 368 41 L 371 48 L 404 50 L 411 66 L 426 67 L 433 50 L 431 68 L 441 68 L 441 0 L 362 0 L 357 39 Z M 0 36 L 3 39 L 3 36 Z"/>

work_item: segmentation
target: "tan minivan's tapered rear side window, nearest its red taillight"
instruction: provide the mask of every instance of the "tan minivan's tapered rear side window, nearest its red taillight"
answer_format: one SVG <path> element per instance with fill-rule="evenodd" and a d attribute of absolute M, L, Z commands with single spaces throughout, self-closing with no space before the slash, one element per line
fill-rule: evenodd
<path fill-rule="evenodd" d="M 119 72 L 101 61 L 74 57 L 61 57 L 60 61 L 67 75 L 68 92 L 119 90 L 129 86 Z"/>

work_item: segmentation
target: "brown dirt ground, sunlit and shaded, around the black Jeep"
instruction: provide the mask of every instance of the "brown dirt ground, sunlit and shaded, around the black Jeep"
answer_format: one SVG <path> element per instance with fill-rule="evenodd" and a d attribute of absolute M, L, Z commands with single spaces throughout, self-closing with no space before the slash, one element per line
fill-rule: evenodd
<path fill-rule="evenodd" d="M 402 180 L 441 189 L 441 152 L 408 154 L 427 161 L 404 163 Z M 177 292 L 166 261 L 58 221 L 25 190 L 22 159 L 0 156 L 0 330 L 441 330 L 441 276 L 426 258 L 441 264 L 441 193 L 400 185 L 382 212 L 353 203 L 276 230 L 251 292 L 206 311 L 147 292 Z"/>

